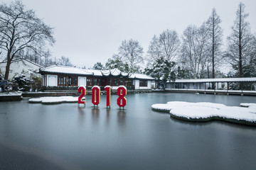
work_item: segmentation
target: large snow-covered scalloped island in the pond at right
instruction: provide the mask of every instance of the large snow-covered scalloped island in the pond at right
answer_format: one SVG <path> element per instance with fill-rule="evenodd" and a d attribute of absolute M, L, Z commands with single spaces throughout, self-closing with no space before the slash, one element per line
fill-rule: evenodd
<path fill-rule="evenodd" d="M 232 123 L 256 125 L 256 103 L 241 103 L 238 106 L 225 106 L 219 103 L 189 103 L 170 101 L 166 104 L 154 104 L 154 111 L 170 113 L 172 118 L 187 121 L 225 120 Z"/>

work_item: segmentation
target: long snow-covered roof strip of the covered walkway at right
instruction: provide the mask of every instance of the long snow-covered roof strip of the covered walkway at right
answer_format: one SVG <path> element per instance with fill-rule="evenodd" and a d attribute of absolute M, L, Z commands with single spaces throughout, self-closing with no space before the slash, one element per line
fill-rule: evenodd
<path fill-rule="evenodd" d="M 220 78 L 220 79 L 176 79 L 174 83 L 210 83 L 210 82 L 256 82 L 256 77 Z"/>

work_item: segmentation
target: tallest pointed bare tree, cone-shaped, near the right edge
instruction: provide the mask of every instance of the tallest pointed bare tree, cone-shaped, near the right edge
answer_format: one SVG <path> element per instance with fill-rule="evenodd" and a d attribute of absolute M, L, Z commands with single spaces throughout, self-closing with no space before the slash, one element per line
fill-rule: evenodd
<path fill-rule="evenodd" d="M 245 13 L 245 4 L 240 3 L 228 37 L 228 51 L 225 57 L 231 61 L 233 68 L 238 69 L 238 77 L 243 77 L 243 67 L 250 62 L 253 36 L 250 33 L 250 24 L 245 20 L 249 16 Z"/>

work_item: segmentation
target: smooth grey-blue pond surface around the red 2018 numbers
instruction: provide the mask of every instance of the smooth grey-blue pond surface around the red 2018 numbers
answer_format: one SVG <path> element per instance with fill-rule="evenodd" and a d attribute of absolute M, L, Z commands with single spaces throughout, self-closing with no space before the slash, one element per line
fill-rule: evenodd
<path fill-rule="evenodd" d="M 189 123 L 151 111 L 154 103 L 256 103 L 249 96 L 129 94 L 119 111 L 77 103 L 0 103 L 0 169 L 256 169 L 256 128 Z"/>

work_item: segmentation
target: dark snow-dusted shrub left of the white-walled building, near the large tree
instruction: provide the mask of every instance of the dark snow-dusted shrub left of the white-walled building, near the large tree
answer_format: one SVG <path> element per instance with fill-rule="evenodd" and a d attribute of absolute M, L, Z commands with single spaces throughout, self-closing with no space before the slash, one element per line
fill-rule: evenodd
<path fill-rule="evenodd" d="M 33 79 L 28 79 L 24 74 L 17 74 L 13 81 L 13 90 L 15 91 L 29 91 L 30 85 L 35 83 Z"/>

